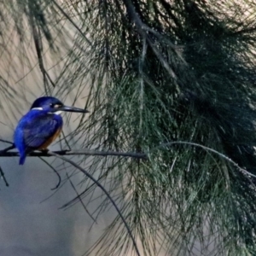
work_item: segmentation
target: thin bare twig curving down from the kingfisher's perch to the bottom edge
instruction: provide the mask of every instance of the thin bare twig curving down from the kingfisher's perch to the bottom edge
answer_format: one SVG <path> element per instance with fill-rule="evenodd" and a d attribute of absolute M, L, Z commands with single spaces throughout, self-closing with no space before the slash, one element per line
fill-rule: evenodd
<path fill-rule="evenodd" d="M 54 155 L 55 157 L 60 158 L 61 160 L 67 161 L 67 162 L 70 163 L 72 166 L 76 167 L 76 168 L 79 169 L 81 172 L 83 172 L 85 176 L 89 177 L 94 183 L 96 183 L 96 185 L 97 185 L 100 189 L 102 189 L 102 191 L 105 193 L 105 195 L 108 196 L 109 201 L 112 202 L 113 207 L 114 207 L 114 208 L 116 209 L 116 211 L 119 213 L 119 217 L 121 218 L 121 220 L 122 220 L 123 223 L 125 224 L 125 228 L 126 228 L 128 234 L 129 234 L 129 236 L 131 236 L 131 241 L 132 241 L 133 246 L 134 246 L 134 248 L 135 248 L 135 250 L 136 250 L 136 253 L 137 253 L 138 256 L 140 256 L 139 250 L 138 250 L 138 248 L 137 248 L 137 243 L 136 243 L 135 238 L 133 237 L 133 235 L 132 235 L 132 233 L 131 233 L 130 227 L 129 227 L 128 224 L 126 223 L 125 218 L 124 218 L 122 212 L 120 212 L 120 210 L 119 210 L 119 207 L 118 207 L 118 206 L 116 205 L 116 203 L 113 201 L 111 195 L 108 194 L 108 191 L 102 186 L 102 184 L 99 183 L 99 182 L 96 180 L 96 178 L 93 177 L 89 172 L 85 171 L 81 166 L 79 166 L 79 165 L 77 165 L 75 162 L 73 162 L 73 160 L 69 160 L 69 159 L 67 159 L 67 158 L 64 157 L 64 156 L 61 156 L 60 154 L 56 154 L 55 152 L 51 152 L 51 151 L 48 151 L 48 154 L 49 154 L 49 155 Z"/>

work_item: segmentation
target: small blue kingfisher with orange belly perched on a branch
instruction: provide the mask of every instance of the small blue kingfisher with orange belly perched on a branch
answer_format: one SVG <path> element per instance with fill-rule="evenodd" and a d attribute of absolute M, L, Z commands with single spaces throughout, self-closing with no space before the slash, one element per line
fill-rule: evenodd
<path fill-rule="evenodd" d="M 30 110 L 20 119 L 14 134 L 20 165 L 25 163 L 26 154 L 34 150 L 47 150 L 49 144 L 60 135 L 62 112 L 89 113 L 86 109 L 67 107 L 51 96 L 40 97 L 32 103 Z"/>

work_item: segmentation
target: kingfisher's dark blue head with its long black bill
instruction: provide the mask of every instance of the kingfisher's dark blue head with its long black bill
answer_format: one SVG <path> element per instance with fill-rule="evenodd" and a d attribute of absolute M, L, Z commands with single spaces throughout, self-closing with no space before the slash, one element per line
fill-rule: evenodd
<path fill-rule="evenodd" d="M 65 106 L 60 100 L 55 97 L 44 96 L 38 98 L 32 103 L 32 109 L 44 110 L 48 113 L 61 113 L 64 112 L 78 112 L 78 113 L 88 113 L 89 111 L 82 108 L 74 108 Z"/>

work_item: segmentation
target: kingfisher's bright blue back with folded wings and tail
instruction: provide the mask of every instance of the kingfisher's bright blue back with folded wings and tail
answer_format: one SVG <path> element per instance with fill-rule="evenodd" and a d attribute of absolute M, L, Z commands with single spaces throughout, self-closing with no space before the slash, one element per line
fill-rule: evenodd
<path fill-rule="evenodd" d="M 62 127 L 61 115 L 47 110 L 32 109 L 24 115 L 16 127 L 15 147 L 20 152 L 20 165 L 24 164 L 26 154 L 40 148 Z"/>

